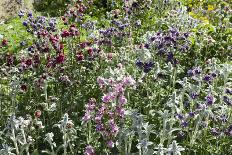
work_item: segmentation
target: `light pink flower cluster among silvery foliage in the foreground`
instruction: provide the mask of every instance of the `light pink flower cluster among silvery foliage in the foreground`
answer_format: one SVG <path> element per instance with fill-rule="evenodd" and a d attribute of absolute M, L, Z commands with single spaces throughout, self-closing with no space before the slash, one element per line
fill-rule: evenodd
<path fill-rule="evenodd" d="M 122 70 L 121 67 L 117 71 Z M 92 120 L 96 124 L 96 131 L 106 140 L 108 148 L 115 145 L 115 137 L 119 132 L 119 125 L 124 121 L 127 103 L 125 91 L 127 87 L 135 84 L 131 76 L 124 76 L 120 79 L 98 77 L 97 82 L 103 91 L 102 103 L 96 105 L 94 99 L 90 99 L 86 105 L 84 122 Z"/>

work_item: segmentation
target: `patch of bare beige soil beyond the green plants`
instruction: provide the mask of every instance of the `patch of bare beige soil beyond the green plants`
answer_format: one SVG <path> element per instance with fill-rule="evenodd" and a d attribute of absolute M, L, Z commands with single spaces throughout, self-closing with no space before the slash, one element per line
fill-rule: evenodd
<path fill-rule="evenodd" d="M 32 8 L 32 0 L 0 0 L 0 21 L 17 15 L 20 9 Z"/>

